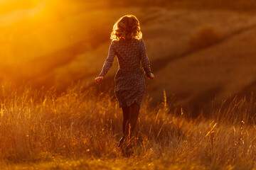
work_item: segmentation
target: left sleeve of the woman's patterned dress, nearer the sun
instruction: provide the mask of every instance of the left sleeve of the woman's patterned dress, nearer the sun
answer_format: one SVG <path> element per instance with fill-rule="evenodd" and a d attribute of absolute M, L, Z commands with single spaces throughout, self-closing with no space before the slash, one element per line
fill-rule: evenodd
<path fill-rule="evenodd" d="M 109 69 L 112 67 L 113 61 L 114 61 L 114 56 L 115 56 L 115 52 L 114 52 L 114 43 L 112 42 L 109 48 L 109 54 L 107 56 L 107 59 L 105 60 L 105 63 L 102 67 L 102 71 L 100 72 L 100 76 L 105 77 L 105 75 L 107 74 L 107 72 L 109 71 Z"/>

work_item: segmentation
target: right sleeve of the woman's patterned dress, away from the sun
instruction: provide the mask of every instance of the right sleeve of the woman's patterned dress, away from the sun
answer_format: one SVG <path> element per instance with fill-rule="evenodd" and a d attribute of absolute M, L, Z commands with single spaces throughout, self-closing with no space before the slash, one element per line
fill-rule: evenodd
<path fill-rule="evenodd" d="M 151 77 L 149 57 L 146 55 L 146 45 L 143 40 L 141 43 L 141 54 L 140 55 L 141 55 L 141 60 L 142 60 L 142 67 L 144 69 L 144 74 L 146 75 L 146 77 Z"/>

